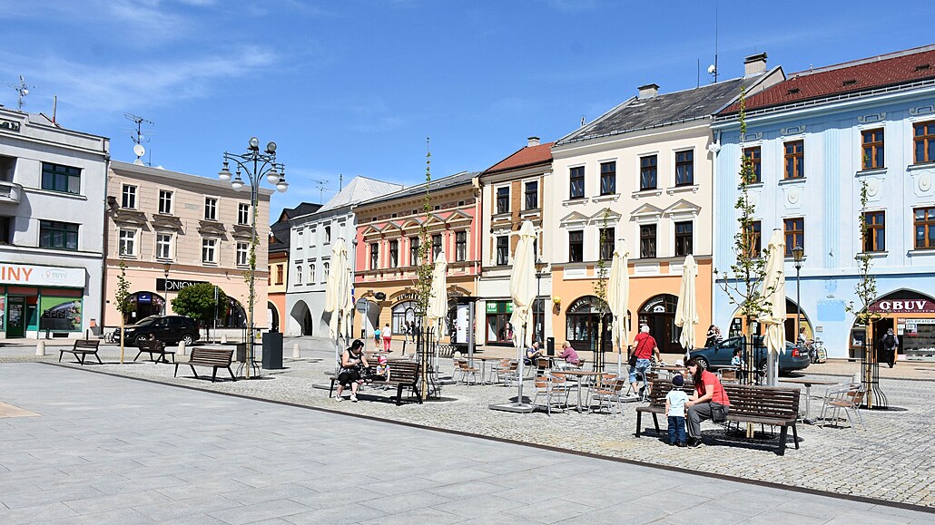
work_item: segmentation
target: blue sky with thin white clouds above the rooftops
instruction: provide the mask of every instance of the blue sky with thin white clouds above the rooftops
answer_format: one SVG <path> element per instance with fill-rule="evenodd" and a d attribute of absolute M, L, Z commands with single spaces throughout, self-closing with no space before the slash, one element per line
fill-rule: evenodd
<path fill-rule="evenodd" d="M 787 73 L 935 43 L 928 2 L 718 2 L 722 78 L 767 51 Z M 694 87 L 714 2 L 600 0 L 0 0 L 0 81 L 25 110 L 111 138 L 153 121 L 153 165 L 215 177 L 256 135 L 287 166 L 282 206 L 355 175 L 405 184 L 482 170 L 655 82 Z M 0 104 L 16 106 L 4 87 Z M 315 182 L 323 180 L 324 184 Z"/>

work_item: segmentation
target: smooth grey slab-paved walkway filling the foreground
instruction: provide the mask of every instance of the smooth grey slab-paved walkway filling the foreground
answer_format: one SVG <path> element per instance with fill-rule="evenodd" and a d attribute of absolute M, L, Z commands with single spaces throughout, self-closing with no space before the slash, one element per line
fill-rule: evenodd
<path fill-rule="evenodd" d="M 0 402 L 39 415 L 0 419 L 4 523 L 935 522 L 41 363 L 0 364 Z"/>

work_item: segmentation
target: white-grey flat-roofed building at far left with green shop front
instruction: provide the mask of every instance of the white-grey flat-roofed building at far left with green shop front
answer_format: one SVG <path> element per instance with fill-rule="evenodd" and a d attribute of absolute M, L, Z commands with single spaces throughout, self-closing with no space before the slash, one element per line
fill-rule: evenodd
<path fill-rule="evenodd" d="M 109 140 L 0 106 L 0 337 L 99 324 Z"/>

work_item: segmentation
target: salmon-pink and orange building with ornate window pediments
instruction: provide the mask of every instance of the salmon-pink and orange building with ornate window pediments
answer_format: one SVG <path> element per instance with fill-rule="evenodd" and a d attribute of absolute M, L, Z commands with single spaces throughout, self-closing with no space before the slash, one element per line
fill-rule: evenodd
<path fill-rule="evenodd" d="M 467 318 L 463 308 L 459 317 L 458 304 L 459 298 L 476 296 L 481 275 L 479 174 L 464 172 L 433 180 L 429 191 L 432 211 L 427 217 L 425 184 L 354 206 L 354 290 L 357 311 L 365 319 L 355 326 L 372 333 L 374 326 L 389 323 L 393 333 L 401 333 L 407 322 L 415 320 L 419 233 L 426 224 L 432 243 L 429 262 L 440 252 L 448 262 L 449 316 L 441 340 L 466 343 Z"/>

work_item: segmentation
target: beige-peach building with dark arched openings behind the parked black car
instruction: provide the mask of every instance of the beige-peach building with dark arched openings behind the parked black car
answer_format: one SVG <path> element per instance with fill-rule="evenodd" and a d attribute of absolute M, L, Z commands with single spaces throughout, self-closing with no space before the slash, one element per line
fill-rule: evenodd
<path fill-rule="evenodd" d="M 269 197 L 261 189 L 256 217 L 259 239 L 269 236 Z M 251 197 L 230 184 L 162 168 L 110 163 L 107 206 L 104 320 L 119 326 L 115 305 L 120 264 L 126 267 L 132 311 L 126 322 L 173 314 L 172 299 L 192 284 L 217 285 L 228 305 L 213 326 L 247 326 Z M 267 244 L 256 249 L 255 326 L 266 328 Z"/>

